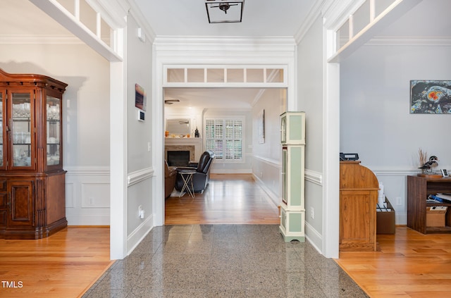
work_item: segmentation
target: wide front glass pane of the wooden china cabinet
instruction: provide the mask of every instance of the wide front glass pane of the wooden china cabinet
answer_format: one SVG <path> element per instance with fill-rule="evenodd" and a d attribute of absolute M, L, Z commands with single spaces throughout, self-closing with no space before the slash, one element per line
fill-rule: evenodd
<path fill-rule="evenodd" d="M 11 93 L 12 166 L 32 166 L 32 92 Z"/>

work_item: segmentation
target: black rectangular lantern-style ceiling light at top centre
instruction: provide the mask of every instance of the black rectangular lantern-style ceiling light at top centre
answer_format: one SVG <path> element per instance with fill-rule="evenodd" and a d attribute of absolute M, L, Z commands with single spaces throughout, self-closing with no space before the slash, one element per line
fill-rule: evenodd
<path fill-rule="evenodd" d="M 209 23 L 241 23 L 245 0 L 205 0 Z"/>

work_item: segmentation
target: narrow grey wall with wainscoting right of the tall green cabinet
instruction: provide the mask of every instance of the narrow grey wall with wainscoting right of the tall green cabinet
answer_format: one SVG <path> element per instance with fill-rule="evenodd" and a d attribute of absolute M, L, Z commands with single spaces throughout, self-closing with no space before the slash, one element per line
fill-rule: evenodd
<path fill-rule="evenodd" d="M 299 111 L 305 111 L 305 232 L 321 249 L 323 230 L 323 26 L 317 18 L 298 44 Z M 314 217 L 311 217 L 311 209 Z"/>

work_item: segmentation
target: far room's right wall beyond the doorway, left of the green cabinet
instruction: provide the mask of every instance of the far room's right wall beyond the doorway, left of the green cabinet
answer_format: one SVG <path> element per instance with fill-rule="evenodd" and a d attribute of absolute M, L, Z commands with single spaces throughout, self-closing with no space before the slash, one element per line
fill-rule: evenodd
<path fill-rule="evenodd" d="M 265 89 L 252 107 L 252 174 L 277 206 L 280 205 L 280 114 L 285 106 L 285 89 Z M 265 142 L 259 143 L 259 114 L 264 110 Z"/>

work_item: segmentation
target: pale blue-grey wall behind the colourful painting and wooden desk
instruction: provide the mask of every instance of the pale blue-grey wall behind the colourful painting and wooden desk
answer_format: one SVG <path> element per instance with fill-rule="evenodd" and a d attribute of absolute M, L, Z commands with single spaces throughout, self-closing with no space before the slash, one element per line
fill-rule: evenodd
<path fill-rule="evenodd" d="M 439 168 L 451 168 L 451 116 L 409 113 L 409 81 L 450 80 L 450 52 L 363 46 L 341 63 L 340 151 L 357 152 L 376 173 L 399 225 L 407 223 L 406 175 L 419 173 L 418 149 L 438 156 Z"/>

